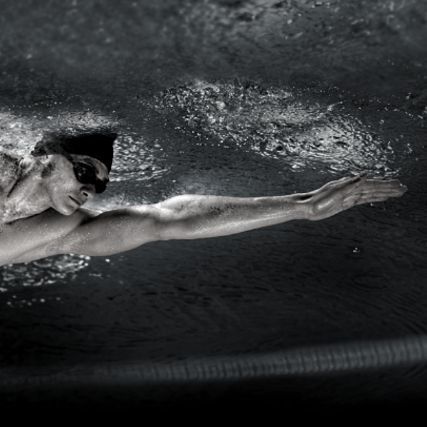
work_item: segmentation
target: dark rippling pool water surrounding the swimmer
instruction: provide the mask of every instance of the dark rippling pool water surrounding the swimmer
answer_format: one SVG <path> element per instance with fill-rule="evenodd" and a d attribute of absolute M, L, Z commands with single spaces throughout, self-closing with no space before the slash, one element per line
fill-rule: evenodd
<path fill-rule="evenodd" d="M 426 1 L 0 10 L 0 144 L 113 127 L 94 209 L 292 194 L 362 170 L 409 188 L 319 223 L 1 268 L 1 399 L 426 396 Z"/>

